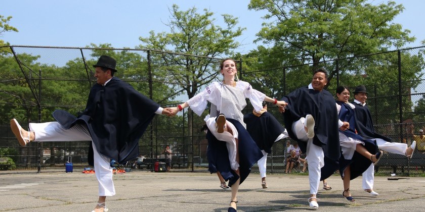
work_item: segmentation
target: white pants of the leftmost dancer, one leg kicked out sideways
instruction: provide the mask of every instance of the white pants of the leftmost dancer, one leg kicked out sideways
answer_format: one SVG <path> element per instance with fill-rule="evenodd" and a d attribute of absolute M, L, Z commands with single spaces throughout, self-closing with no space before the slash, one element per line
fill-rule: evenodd
<path fill-rule="evenodd" d="M 30 123 L 29 129 L 35 133 L 34 141 L 91 141 L 89 130 L 84 125 L 75 125 L 65 130 L 58 122 Z M 114 182 L 112 181 L 112 168 L 110 158 L 105 157 L 96 150 L 93 143 L 96 178 L 99 182 L 99 196 L 115 195 Z"/>

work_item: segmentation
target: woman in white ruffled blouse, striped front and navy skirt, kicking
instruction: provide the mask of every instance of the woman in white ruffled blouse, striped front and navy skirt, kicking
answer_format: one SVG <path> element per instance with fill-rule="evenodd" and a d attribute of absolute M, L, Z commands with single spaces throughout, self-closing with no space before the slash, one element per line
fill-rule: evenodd
<path fill-rule="evenodd" d="M 176 115 L 184 108 L 190 107 L 198 116 L 206 109 L 207 101 L 211 103 L 209 117 L 205 118 L 208 131 L 207 152 L 209 171 L 219 171 L 232 188 L 232 196 L 228 211 L 236 211 L 237 192 L 248 176 L 251 167 L 263 153 L 246 131 L 243 122 L 242 109 L 249 98 L 256 111 L 263 109 L 262 102 L 272 102 L 279 107 L 285 107 L 285 101 L 270 98 L 255 90 L 247 82 L 237 79 L 237 66 L 232 59 L 224 59 L 220 64 L 222 82 L 213 82 L 183 104 L 169 111 Z"/>

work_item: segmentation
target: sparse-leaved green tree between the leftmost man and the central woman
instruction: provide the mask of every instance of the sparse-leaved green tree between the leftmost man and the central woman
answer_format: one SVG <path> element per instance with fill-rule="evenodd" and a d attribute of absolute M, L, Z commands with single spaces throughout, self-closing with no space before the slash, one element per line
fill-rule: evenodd
<path fill-rule="evenodd" d="M 234 39 L 241 35 L 244 28 L 237 27 L 238 20 L 231 15 L 222 15 L 224 27 L 215 24 L 214 13 L 203 10 L 197 13 L 195 7 L 180 11 L 177 5 L 169 10 L 171 17 L 166 24 L 169 32 L 140 37 L 140 48 L 174 51 L 179 54 L 164 54 L 152 51 L 154 71 L 166 71 L 168 86 L 172 90 L 182 90 L 193 97 L 201 86 L 209 84 L 218 75 L 219 61 L 212 57 L 231 55 L 240 44 Z M 200 57 L 195 57 L 200 56 Z M 184 93 L 178 93 L 177 95 Z M 188 113 L 188 135 L 192 135 L 192 113 Z"/>

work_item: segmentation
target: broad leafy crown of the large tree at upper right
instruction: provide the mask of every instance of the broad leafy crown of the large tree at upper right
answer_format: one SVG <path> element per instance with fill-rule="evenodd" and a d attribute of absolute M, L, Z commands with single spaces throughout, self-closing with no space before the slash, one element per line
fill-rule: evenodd
<path fill-rule="evenodd" d="M 366 0 L 251 0 L 251 10 L 266 10 L 257 41 L 280 47 L 288 65 L 293 59 L 312 63 L 386 51 L 414 41 L 409 30 L 392 20 L 403 11 L 395 2 L 373 6 Z M 298 62 L 296 62 L 298 63 Z M 341 70 L 359 68 L 355 58 L 338 64 Z M 351 66 L 350 66 L 351 65 Z M 367 65 L 367 64 L 366 64 Z M 328 62 L 329 79 L 336 74 L 335 63 Z"/>

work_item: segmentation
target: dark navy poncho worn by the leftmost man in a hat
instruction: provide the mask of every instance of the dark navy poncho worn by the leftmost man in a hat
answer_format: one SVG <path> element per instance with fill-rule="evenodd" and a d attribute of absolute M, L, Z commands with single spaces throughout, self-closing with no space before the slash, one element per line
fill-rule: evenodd
<path fill-rule="evenodd" d="M 53 117 L 65 129 L 86 124 L 98 152 L 123 163 L 139 156 L 139 139 L 158 108 L 156 102 L 113 77 L 105 86 L 92 87 L 86 110 L 78 117 L 62 110 L 55 111 Z M 89 164 L 93 165 L 93 148 Z"/>

